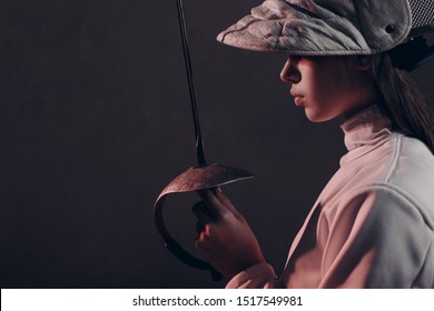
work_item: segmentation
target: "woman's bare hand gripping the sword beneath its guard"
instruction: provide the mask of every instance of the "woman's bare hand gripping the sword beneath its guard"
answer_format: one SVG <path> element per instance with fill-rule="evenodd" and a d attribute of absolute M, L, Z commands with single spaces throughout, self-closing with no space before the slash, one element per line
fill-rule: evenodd
<path fill-rule="evenodd" d="M 265 262 L 258 241 L 244 217 L 220 189 L 201 190 L 193 212 L 198 219 L 196 248 L 225 278 Z"/>

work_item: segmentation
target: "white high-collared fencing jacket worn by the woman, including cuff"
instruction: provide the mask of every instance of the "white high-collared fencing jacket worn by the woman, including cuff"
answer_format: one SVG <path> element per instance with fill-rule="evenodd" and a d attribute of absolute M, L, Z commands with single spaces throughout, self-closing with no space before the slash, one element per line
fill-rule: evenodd
<path fill-rule="evenodd" d="M 391 131 L 376 106 L 342 129 L 348 153 L 296 235 L 284 272 L 268 263 L 226 288 L 434 288 L 434 157 Z"/>

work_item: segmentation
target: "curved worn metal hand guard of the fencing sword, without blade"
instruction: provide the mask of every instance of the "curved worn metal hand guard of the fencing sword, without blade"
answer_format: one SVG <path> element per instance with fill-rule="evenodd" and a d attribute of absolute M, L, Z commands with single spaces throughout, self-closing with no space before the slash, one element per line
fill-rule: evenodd
<path fill-rule="evenodd" d="M 175 178 L 161 191 L 154 205 L 154 222 L 165 241 L 166 248 L 181 262 L 196 269 L 209 270 L 213 279 L 219 280 L 221 278 L 220 273 L 217 272 L 208 262 L 191 255 L 185 251 L 174 238 L 171 238 L 164 221 L 162 205 L 167 195 L 170 193 L 210 189 L 253 177 L 253 173 L 241 169 L 220 164 L 208 164 L 204 167 L 189 168 L 187 171 Z"/>

